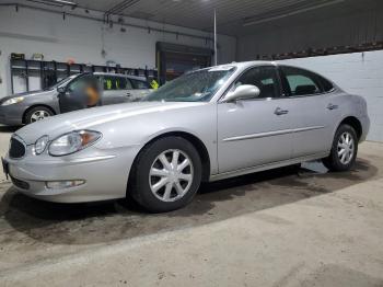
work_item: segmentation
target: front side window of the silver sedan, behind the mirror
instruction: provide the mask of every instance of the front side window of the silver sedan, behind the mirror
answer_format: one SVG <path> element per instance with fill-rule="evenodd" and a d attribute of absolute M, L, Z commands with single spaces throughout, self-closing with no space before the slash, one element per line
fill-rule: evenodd
<path fill-rule="evenodd" d="M 258 97 L 278 97 L 280 96 L 279 78 L 275 67 L 256 67 L 246 71 L 234 83 L 253 84 L 258 87 L 260 94 Z"/>

